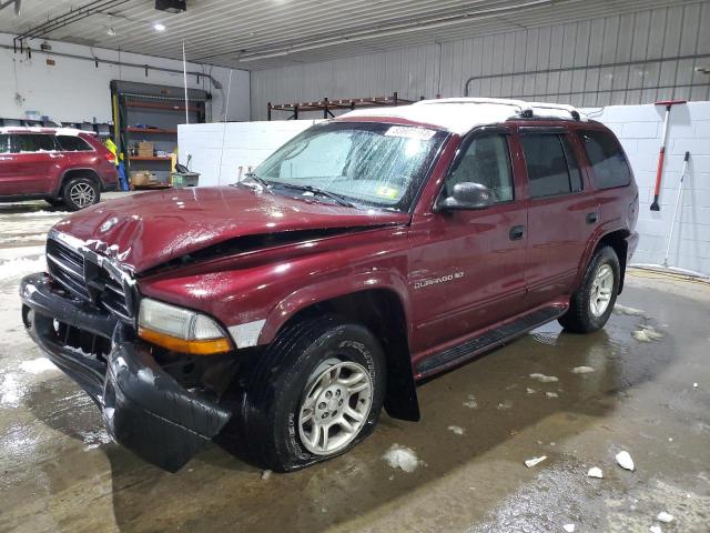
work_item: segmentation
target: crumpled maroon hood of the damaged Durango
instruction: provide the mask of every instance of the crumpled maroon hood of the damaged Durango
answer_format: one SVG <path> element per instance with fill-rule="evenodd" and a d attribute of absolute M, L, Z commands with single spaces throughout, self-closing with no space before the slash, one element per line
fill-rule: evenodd
<path fill-rule="evenodd" d="M 294 199 L 247 187 L 133 194 L 79 211 L 54 229 L 140 273 L 205 247 L 246 235 L 406 223 L 406 213 Z"/>

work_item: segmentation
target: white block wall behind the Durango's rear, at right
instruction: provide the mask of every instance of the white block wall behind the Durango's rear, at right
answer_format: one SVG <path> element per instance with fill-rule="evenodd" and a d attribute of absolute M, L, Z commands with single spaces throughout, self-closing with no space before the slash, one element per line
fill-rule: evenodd
<path fill-rule="evenodd" d="M 588 110 L 594 112 L 595 110 Z M 678 198 L 686 151 L 690 152 L 669 264 L 710 275 L 710 102 L 676 105 L 671 111 L 660 211 L 651 211 L 665 108 L 611 105 L 596 120 L 621 141 L 639 187 L 639 247 L 635 263 L 662 264 Z"/>

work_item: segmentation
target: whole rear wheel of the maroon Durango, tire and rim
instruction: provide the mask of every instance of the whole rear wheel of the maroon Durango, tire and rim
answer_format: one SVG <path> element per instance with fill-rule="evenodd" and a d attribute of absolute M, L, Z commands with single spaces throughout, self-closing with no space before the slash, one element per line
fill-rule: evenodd
<path fill-rule="evenodd" d="M 569 309 L 559 318 L 562 328 L 574 333 L 591 333 L 604 328 L 617 301 L 620 279 L 619 258 L 613 249 L 597 250 L 581 285 L 570 299 Z"/>

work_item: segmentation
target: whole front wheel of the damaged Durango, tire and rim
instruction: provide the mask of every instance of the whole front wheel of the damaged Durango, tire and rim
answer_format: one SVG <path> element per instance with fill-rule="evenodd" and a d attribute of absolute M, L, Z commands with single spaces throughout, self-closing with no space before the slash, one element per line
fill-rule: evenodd
<path fill-rule="evenodd" d="M 286 472 L 341 455 L 373 432 L 384 395 L 384 353 L 369 330 L 333 315 L 292 324 L 248 380 L 252 457 Z"/>

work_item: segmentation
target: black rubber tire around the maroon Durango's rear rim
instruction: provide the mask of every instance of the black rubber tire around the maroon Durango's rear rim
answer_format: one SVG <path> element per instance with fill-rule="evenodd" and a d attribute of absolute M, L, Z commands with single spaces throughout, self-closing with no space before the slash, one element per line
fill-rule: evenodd
<path fill-rule="evenodd" d="M 595 314 L 591 304 L 592 291 L 595 290 L 594 282 L 600 269 L 605 265 L 608 265 L 613 274 L 610 300 L 602 313 Z M 581 285 L 570 299 L 569 309 L 559 318 L 558 321 L 561 326 L 572 333 L 591 333 L 604 328 L 617 301 L 620 279 L 619 258 L 611 247 L 601 247 L 589 261 Z"/>

